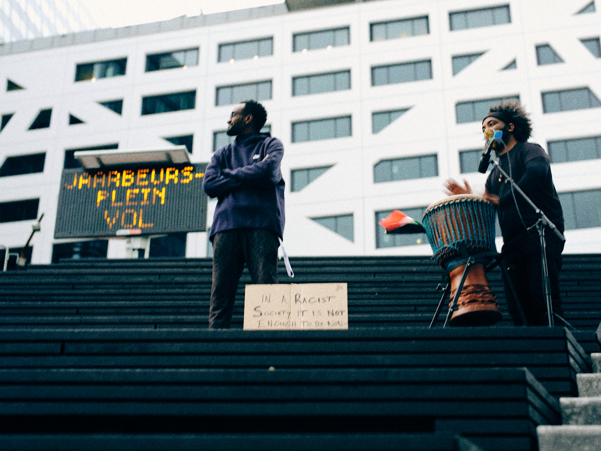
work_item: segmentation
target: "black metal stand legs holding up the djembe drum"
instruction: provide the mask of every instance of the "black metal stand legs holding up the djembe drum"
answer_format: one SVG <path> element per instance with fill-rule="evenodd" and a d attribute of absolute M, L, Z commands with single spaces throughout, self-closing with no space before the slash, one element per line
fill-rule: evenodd
<path fill-rule="evenodd" d="M 445 301 L 447 300 L 447 296 L 449 295 L 449 293 L 451 291 L 451 280 L 450 280 L 449 274 L 451 274 L 451 271 L 453 271 L 453 269 L 456 269 L 456 268 L 459 268 L 459 266 L 465 265 L 465 268 L 463 269 L 463 275 L 459 282 L 459 286 L 457 287 L 457 292 L 455 293 L 455 296 L 453 296 L 453 301 L 449 305 L 447 319 L 445 320 L 445 324 L 442 326 L 443 328 L 447 327 L 447 324 L 449 323 L 449 321 L 451 321 L 451 316 L 453 316 L 453 312 L 459 310 L 459 307 L 457 307 L 457 301 L 459 301 L 459 296 L 461 295 L 461 290 L 463 290 L 463 284 L 465 283 L 465 280 L 468 277 L 469 268 L 472 265 L 474 265 L 476 260 L 492 259 L 492 260 L 494 260 L 494 262 L 492 262 L 486 266 L 486 272 L 489 272 L 491 269 L 495 268 L 496 265 L 499 265 L 501 267 L 501 271 L 503 271 L 505 273 L 505 276 L 506 277 L 508 276 L 507 269 L 504 268 L 503 265 L 501 265 L 501 254 L 498 254 L 496 252 L 482 252 L 482 253 L 478 253 L 478 254 L 468 255 L 465 248 L 463 248 L 461 250 L 461 252 L 462 252 L 463 258 L 460 260 L 456 260 L 456 262 L 454 262 L 453 265 L 448 266 L 448 268 L 446 270 L 447 274 L 445 275 L 445 281 L 447 281 L 447 286 L 443 290 L 441 301 L 438 303 L 438 307 L 436 308 L 436 313 L 434 314 L 434 318 L 432 318 L 432 322 L 430 322 L 429 329 L 432 329 L 436 325 L 436 321 L 438 321 L 438 317 L 441 314 L 442 305 L 444 305 Z M 511 283 L 511 280 L 508 277 L 507 277 L 507 280 L 509 281 L 510 288 L 514 294 L 514 298 L 517 301 L 517 309 L 520 313 L 520 316 L 522 317 L 522 324 L 525 325 L 526 318 L 523 313 L 522 306 L 519 304 L 519 301 L 517 300 L 517 296 L 515 294 L 516 292 L 513 287 L 513 284 Z M 442 289 L 441 284 L 438 285 L 438 289 L 439 290 Z"/>

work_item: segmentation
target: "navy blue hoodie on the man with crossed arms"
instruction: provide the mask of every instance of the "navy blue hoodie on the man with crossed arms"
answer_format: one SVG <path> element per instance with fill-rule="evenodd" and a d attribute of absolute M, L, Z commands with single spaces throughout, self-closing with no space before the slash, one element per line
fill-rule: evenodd
<path fill-rule="evenodd" d="M 238 135 L 215 152 L 203 182 L 204 192 L 218 199 L 211 241 L 232 229 L 266 229 L 283 237 L 282 156 L 284 146 L 269 133 Z"/>

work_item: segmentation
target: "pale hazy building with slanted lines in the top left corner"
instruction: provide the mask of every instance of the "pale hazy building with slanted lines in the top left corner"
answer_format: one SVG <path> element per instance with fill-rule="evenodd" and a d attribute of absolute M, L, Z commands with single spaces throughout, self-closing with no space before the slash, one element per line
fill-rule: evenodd
<path fill-rule="evenodd" d="M 79 0 L 0 0 L 0 43 L 94 28 Z"/>

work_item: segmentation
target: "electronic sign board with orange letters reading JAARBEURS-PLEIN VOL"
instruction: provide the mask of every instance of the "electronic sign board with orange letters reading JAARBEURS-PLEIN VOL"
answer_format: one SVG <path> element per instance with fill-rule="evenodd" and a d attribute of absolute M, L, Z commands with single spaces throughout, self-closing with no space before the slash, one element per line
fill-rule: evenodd
<path fill-rule="evenodd" d="M 207 164 L 63 171 L 54 238 L 206 230 Z"/>

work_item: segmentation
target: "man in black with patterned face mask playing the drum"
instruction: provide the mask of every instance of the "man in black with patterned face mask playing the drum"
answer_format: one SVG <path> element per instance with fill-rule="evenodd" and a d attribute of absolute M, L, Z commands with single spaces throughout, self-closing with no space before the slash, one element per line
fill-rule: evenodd
<path fill-rule="evenodd" d="M 551 177 L 551 158 L 538 144 L 526 142 L 532 133 L 528 116 L 519 100 L 502 100 L 490 106 L 482 121 L 482 131 L 501 130 L 504 145 L 495 150 L 499 165 L 563 233 L 563 211 Z M 449 195 L 471 194 L 467 180 L 463 182 L 465 185 L 448 179 L 444 183 L 445 192 Z M 526 324 L 548 325 L 540 239 L 537 230 L 530 229 L 538 221 L 538 215 L 517 192 L 512 192 L 510 183 L 505 183 L 496 167 L 486 180 L 484 197 L 497 207 L 504 242 L 502 265 L 508 268 L 508 277 L 523 308 Z M 563 317 L 559 272 L 564 243 L 551 230 L 545 230 L 545 239 L 553 312 Z M 522 325 L 519 307 L 505 274 L 503 281 L 511 318 L 515 325 Z"/>

